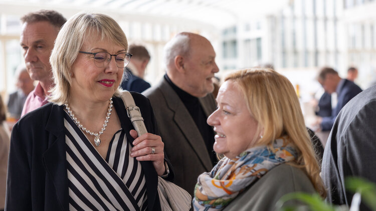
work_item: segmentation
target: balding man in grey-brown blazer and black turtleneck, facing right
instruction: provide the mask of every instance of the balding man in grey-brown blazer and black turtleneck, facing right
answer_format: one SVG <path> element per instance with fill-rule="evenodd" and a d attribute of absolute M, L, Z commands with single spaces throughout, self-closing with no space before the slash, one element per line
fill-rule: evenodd
<path fill-rule="evenodd" d="M 151 102 L 164 150 L 175 169 L 174 183 L 192 195 L 198 175 L 217 162 L 214 131 L 206 122 L 216 109 L 215 57 L 207 38 L 181 32 L 164 47 L 166 74 L 142 92 Z"/>

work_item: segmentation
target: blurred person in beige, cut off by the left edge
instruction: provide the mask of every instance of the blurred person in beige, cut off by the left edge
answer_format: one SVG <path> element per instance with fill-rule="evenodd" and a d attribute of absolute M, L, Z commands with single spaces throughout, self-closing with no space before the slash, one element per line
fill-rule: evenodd
<path fill-rule="evenodd" d="M 7 183 L 7 167 L 9 152 L 9 130 L 5 122 L 6 108 L 0 95 L 0 210 L 5 207 L 5 193 Z"/>

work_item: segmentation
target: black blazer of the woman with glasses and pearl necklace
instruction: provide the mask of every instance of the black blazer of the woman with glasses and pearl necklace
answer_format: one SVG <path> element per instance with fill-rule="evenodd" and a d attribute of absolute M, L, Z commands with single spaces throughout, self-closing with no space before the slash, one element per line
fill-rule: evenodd
<path fill-rule="evenodd" d="M 149 132 L 158 129 L 149 100 L 139 93 L 132 96 Z M 133 125 L 121 98 L 113 97 L 114 107 L 127 139 Z M 21 118 L 13 128 L 9 153 L 6 210 L 68 210 L 68 176 L 62 105 L 48 103 Z M 169 161 L 165 158 L 173 178 Z M 157 173 L 151 161 L 141 161 L 145 174 L 148 210 L 160 210 Z M 126 208 L 125 208 L 126 209 Z"/>

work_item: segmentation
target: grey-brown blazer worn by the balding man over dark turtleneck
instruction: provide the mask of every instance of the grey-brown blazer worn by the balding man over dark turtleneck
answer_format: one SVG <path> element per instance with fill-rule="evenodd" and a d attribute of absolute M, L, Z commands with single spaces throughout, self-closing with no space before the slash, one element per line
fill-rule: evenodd
<path fill-rule="evenodd" d="M 194 119 L 164 78 L 142 94 L 153 107 L 164 150 L 175 170 L 174 183 L 193 195 L 197 177 L 213 168 Z M 211 93 L 200 98 L 200 102 L 207 117 L 216 109 Z"/>

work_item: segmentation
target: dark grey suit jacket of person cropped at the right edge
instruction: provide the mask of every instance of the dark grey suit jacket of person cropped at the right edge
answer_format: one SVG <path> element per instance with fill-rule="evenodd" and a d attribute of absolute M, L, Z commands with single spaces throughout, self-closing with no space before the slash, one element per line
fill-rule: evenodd
<path fill-rule="evenodd" d="M 339 112 L 326 142 L 322 178 L 328 200 L 350 205 L 344 179 L 360 176 L 376 183 L 376 86 L 352 98 Z M 361 205 L 360 210 L 370 210 Z"/>

